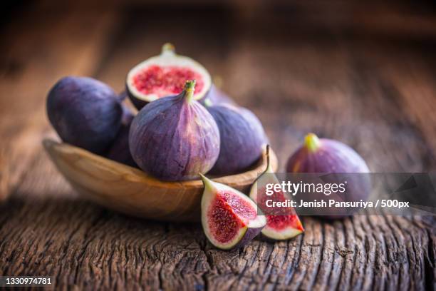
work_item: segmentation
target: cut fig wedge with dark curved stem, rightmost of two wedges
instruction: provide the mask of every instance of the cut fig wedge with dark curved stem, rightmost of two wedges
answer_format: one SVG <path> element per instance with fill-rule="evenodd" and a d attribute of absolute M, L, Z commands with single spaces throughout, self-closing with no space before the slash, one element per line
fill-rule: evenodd
<path fill-rule="evenodd" d="M 251 186 L 250 198 L 256 202 L 266 216 L 266 225 L 262 230 L 262 235 L 274 240 L 288 240 L 303 233 L 304 228 L 294 208 L 266 206 L 266 200 L 284 202 L 290 199 L 289 195 L 281 190 L 274 189 L 274 194 L 265 194 L 267 184 L 279 184 L 279 179 L 277 179 L 269 163 L 269 146 L 266 146 L 266 158 L 266 170 L 259 175 L 259 178 Z"/>

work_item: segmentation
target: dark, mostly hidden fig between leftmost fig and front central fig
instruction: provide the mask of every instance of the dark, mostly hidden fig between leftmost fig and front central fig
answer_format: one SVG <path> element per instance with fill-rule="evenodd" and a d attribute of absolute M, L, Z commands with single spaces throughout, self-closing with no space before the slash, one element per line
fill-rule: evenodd
<path fill-rule="evenodd" d="M 110 160 L 115 160 L 118 163 L 123 163 L 125 165 L 130 165 L 130 167 L 138 168 L 135 160 L 133 160 L 130 154 L 129 147 L 129 131 L 130 125 L 133 121 L 133 113 L 130 109 L 123 105 L 123 121 L 121 124 L 120 131 L 118 131 L 115 140 L 110 146 L 108 152 L 105 154 L 106 158 Z"/>

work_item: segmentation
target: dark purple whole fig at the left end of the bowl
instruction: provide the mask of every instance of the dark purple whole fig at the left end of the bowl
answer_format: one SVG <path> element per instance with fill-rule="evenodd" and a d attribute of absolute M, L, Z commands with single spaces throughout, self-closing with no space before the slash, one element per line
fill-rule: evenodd
<path fill-rule="evenodd" d="M 113 142 L 123 115 L 113 89 L 87 77 L 61 78 L 48 92 L 46 108 L 62 141 L 98 154 Z"/>

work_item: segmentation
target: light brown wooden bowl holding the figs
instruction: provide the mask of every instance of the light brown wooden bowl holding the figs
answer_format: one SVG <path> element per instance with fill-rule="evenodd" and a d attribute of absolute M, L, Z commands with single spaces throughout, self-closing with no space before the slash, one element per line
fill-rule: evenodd
<path fill-rule="evenodd" d="M 51 160 L 83 197 L 128 215 L 165 221 L 199 221 L 201 180 L 164 182 L 137 168 L 108 160 L 50 139 L 43 141 Z M 277 157 L 269 151 L 271 166 Z M 214 178 L 214 181 L 248 193 L 259 173 L 266 169 L 266 155 L 249 171 Z"/>

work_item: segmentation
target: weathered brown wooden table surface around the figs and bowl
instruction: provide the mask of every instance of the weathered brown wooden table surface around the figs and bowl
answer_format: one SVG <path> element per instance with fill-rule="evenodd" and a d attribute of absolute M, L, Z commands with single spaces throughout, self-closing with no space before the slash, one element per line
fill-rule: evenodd
<path fill-rule="evenodd" d="M 1 34 L 0 196 L 10 197 L 0 275 L 52 275 L 78 290 L 435 290 L 434 218 L 304 217 L 294 240 L 221 251 L 198 224 L 82 200 L 41 147 L 54 136 L 45 98 L 58 78 L 94 76 L 121 91 L 129 68 L 172 41 L 259 116 L 281 169 L 313 131 L 353 146 L 373 171 L 435 171 L 436 19 L 374 5 L 346 6 L 337 22 L 323 9 L 292 14 L 298 7 L 255 21 L 220 6 L 16 12 Z"/>

